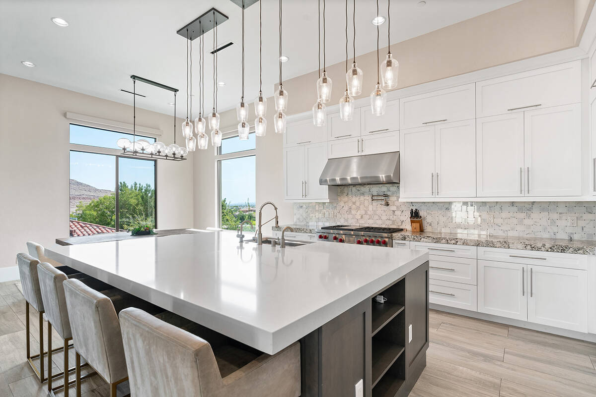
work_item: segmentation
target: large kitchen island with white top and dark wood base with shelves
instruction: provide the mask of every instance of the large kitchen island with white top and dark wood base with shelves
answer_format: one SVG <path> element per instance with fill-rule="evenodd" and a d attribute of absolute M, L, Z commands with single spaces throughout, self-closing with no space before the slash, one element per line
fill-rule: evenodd
<path fill-rule="evenodd" d="M 46 255 L 267 354 L 300 341 L 302 396 L 405 396 L 426 366 L 428 253 L 203 231 Z"/>

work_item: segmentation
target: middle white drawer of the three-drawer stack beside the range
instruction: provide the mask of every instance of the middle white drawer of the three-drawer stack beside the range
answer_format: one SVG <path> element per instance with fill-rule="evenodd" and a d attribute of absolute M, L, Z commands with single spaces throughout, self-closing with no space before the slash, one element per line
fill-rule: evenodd
<path fill-rule="evenodd" d="M 430 280 L 429 301 L 437 305 L 477 311 L 476 285 Z"/>

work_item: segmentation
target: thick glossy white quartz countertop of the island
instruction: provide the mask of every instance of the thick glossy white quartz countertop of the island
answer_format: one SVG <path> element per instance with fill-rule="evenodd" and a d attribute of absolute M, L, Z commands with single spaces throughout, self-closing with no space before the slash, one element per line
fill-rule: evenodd
<path fill-rule="evenodd" d="M 46 256 L 268 354 L 429 259 L 423 251 L 315 242 L 241 247 L 204 231 L 46 247 Z"/>

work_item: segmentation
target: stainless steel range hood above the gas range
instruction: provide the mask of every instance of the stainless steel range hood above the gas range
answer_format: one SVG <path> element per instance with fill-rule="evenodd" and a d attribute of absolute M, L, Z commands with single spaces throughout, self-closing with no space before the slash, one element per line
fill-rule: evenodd
<path fill-rule="evenodd" d="M 329 159 L 320 185 L 368 185 L 399 183 L 399 152 Z"/>

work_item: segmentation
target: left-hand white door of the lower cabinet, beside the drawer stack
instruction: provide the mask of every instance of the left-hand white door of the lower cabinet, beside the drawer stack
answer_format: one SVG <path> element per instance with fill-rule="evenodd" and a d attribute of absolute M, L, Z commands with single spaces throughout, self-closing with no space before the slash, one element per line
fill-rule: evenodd
<path fill-rule="evenodd" d="M 478 311 L 527 320 L 527 265 L 478 261 Z"/>

